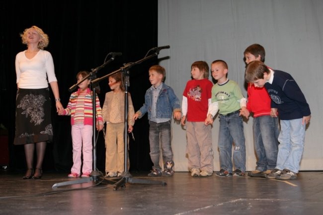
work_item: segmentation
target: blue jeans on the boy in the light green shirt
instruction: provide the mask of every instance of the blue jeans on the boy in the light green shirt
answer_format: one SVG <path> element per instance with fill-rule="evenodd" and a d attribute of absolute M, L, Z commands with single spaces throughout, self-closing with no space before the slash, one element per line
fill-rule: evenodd
<path fill-rule="evenodd" d="M 232 144 L 234 143 L 233 162 L 236 169 L 245 172 L 245 139 L 243 121 L 239 111 L 227 115 L 220 114 L 219 150 L 221 169 L 232 172 Z"/>

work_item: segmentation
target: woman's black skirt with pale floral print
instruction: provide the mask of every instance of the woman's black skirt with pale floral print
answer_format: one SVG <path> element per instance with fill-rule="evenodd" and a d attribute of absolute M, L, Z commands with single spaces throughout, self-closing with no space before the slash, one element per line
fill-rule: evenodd
<path fill-rule="evenodd" d="M 52 142 L 49 88 L 19 88 L 16 97 L 16 132 L 13 144 Z"/>

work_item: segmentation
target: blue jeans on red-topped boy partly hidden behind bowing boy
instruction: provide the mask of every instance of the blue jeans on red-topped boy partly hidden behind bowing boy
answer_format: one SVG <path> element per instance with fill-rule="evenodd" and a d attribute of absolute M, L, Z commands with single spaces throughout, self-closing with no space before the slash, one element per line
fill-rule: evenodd
<path fill-rule="evenodd" d="M 276 167 L 278 153 L 278 118 L 253 118 L 253 143 L 257 155 L 256 169 L 266 171 Z"/>

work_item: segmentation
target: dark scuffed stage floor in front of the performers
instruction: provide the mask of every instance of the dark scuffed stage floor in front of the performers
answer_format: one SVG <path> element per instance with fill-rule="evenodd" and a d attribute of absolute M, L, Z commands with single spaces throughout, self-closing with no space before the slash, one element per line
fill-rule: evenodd
<path fill-rule="evenodd" d="M 44 172 L 40 180 L 0 172 L 0 215 L 322 215 L 323 172 L 303 171 L 296 180 L 128 175 L 69 184 L 66 173 Z M 135 183 L 137 180 L 140 183 Z M 78 181 L 80 182 L 80 181 Z M 156 182 L 158 184 L 148 184 Z M 165 183 L 165 184 L 164 184 Z M 53 188 L 54 186 L 54 188 Z"/>

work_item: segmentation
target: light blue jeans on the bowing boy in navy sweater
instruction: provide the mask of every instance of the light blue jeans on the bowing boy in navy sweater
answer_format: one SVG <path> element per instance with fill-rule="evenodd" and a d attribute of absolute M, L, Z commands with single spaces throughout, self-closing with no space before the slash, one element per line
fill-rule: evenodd
<path fill-rule="evenodd" d="M 302 118 L 280 120 L 279 146 L 276 168 L 298 173 L 305 142 L 305 127 Z"/>

